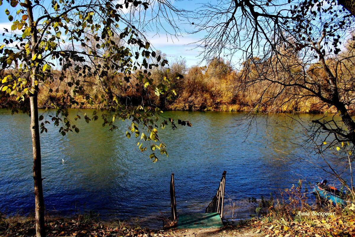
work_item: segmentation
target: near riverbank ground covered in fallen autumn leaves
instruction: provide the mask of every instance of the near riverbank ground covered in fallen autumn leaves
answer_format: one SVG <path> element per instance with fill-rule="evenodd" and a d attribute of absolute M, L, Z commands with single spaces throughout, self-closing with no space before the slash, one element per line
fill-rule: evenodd
<path fill-rule="evenodd" d="M 274 217 L 274 214 L 269 212 L 259 219 L 251 219 L 237 226 L 224 226 L 219 229 L 152 230 L 140 226 L 130 226 L 122 222 L 104 224 L 83 215 L 72 219 L 47 217 L 46 227 L 47 236 L 77 237 L 355 236 L 354 212 L 349 208 L 336 211 L 334 215 L 296 215 L 293 220 L 274 219 Z M 34 231 L 33 218 L 17 216 L 0 220 L 1 237 L 33 237 Z"/>

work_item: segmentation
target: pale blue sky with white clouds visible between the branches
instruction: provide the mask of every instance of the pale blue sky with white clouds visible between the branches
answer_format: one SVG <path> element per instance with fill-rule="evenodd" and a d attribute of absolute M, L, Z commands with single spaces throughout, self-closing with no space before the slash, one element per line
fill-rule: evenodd
<path fill-rule="evenodd" d="M 75 1 L 80 2 L 86 0 L 75 0 Z M 119 4 L 124 2 L 124 0 L 115 0 L 115 1 Z M 184 9 L 187 11 L 197 10 L 199 9 L 199 7 L 201 7 L 201 4 L 207 3 L 206 0 L 169 0 L 169 1 L 166 0 L 166 1 L 171 2 L 171 4 L 177 9 Z M 210 1 L 213 2 L 212 4 L 217 4 L 217 6 L 221 6 L 222 4 L 226 4 L 226 2 L 228 2 L 228 1 L 223 2 L 221 0 L 210 0 Z M 51 5 L 50 0 L 43 0 L 40 2 L 44 6 Z M 154 0 L 152 0 L 152 2 L 154 2 Z M 283 2 L 283 0 L 280 0 L 280 2 Z M 19 7 L 17 6 L 16 8 L 18 9 Z M 0 11 L 4 12 L 5 9 L 9 9 L 10 14 L 15 17 L 16 15 L 15 9 L 11 7 L 10 3 L 7 1 L 3 1 L 2 5 L 0 6 Z M 149 9 L 146 11 L 146 15 L 149 16 L 151 11 L 152 10 L 154 11 L 156 9 L 157 8 L 154 7 L 154 5 L 150 5 Z M 221 9 L 215 9 L 215 10 L 216 11 L 222 10 L 222 6 Z M 128 14 L 128 11 L 124 9 L 123 14 Z M 34 15 L 35 15 L 34 17 L 37 18 L 38 16 L 40 16 L 40 13 L 34 12 Z M 0 19 L 0 33 L 5 32 L 4 28 L 10 30 L 12 25 L 12 23 L 7 19 L 7 16 L 5 14 L 3 14 L 2 16 L 3 17 Z M 176 59 L 178 59 L 179 61 L 181 59 L 185 59 L 186 65 L 188 67 L 195 66 L 195 65 L 200 65 L 200 66 L 206 65 L 206 61 L 202 61 L 202 56 L 200 56 L 200 52 L 203 51 L 203 48 L 198 48 L 196 43 L 204 37 L 206 32 L 189 34 L 189 32 L 192 32 L 194 30 L 196 24 L 192 25 L 192 22 L 189 22 L 189 20 L 187 20 L 186 18 L 180 21 L 179 18 L 173 13 L 169 15 L 169 19 L 175 20 L 176 25 L 180 27 L 181 31 L 179 32 L 180 34 L 178 36 L 170 35 L 167 34 L 166 31 L 173 32 L 173 29 L 164 20 L 164 17 L 160 17 L 159 19 L 160 19 L 160 25 L 158 25 L 157 27 L 153 26 L 151 28 L 146 28 L 146 32 L 144 33 L 148 41 L 151 43 L 151 47 L 153 49 L 160 50 L 162 53 L 166 54 L 169 62 L 174 62 Z M 198 19 L 195 20 L 198 21 Z M 244 31 L 246 32 L 246 29 L 244 29 Z M 239 32 L 239 34 L 242 35 L 245 32 Z M 62 37 L 64 38 L 65 36 L 62 35 Z M 262 48 L 263 45 L 260 45 L 260 47 Z M 241 67 L 241 62 L 243 61 L 241 54 L 242 53 L 238 51 L 229 59 L 231 61 L 231 65 L 233 65 L 235 69 Z"/>

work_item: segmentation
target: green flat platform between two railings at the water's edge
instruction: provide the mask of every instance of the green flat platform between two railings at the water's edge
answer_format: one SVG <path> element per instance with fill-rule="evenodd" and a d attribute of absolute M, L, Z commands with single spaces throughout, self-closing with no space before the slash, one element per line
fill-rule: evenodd
<path fill-rule="evenodd" d="M 197 229 L 197 228 L 220 228 L 223 223 L 219 214 L 216 213 L 196 213 L 179 215 L 178 229 Z"/>

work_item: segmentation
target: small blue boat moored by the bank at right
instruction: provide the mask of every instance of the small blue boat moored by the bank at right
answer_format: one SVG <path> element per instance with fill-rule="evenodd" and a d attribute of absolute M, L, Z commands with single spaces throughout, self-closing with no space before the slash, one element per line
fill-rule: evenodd
<path fill-rule="evenodd" d="M 346 193 L 335 187 L 327 185 L 327 180 L 324 179 L 322 182 L 317 182 L 317 185 L 313 188 L 313 194 L 318 195 L 324 200 L 328 200 L 334 206 L 346 206 L 347 203 L 343 199 Z"/>

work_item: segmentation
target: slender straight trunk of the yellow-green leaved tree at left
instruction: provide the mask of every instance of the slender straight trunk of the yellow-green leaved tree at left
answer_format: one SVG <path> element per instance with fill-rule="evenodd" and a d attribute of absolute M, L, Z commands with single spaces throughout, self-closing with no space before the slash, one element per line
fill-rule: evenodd
<path fill-rule="evenodd" d="M 32 2 L 25 0 L 27 5 L 28 24 L 31 26 L 31 56 L 32 58 L 38 53 L 37 45 L 37 25 L 33 20 Z M 38 122 L 38 82 L 37 67 L 32 65 L 31 87 L 34 89 L 33 94 L 29 97 L 31 107 L 31 134 L 33 149 L 33 183 L 34 183 L 34 204 L 35 204 L 35 223 L 37 237 L 45 237 L 44 226 L 44 199 L 42 188 L 42 169 L 41 169 L 41 148 L 39 141 L 39 122 Z"/>

